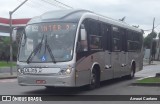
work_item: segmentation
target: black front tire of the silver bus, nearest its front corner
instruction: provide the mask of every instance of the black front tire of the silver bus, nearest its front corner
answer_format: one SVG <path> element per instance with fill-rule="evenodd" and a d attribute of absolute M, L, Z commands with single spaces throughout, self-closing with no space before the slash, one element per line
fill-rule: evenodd
<path fill-rule="evenodd" d="M 99 87 L 100 87 L 100 73 L 98 70 L 93 68 L 92 73 L 91 73 L 91 80 L 90 80 L 90 84 L 88 88 L 89 90 L 93 90 Z"/>

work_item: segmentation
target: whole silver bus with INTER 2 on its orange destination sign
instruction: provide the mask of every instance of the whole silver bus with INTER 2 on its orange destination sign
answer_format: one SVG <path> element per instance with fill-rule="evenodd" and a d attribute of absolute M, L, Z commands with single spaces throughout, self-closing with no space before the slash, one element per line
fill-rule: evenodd
<path fill-rule="evenodd" d="M 143 67 L 143 31 L 87 10 L 58 10 L 31 19 L 17 60 L 22 86 L 94 89 L 134 77 Z"/>

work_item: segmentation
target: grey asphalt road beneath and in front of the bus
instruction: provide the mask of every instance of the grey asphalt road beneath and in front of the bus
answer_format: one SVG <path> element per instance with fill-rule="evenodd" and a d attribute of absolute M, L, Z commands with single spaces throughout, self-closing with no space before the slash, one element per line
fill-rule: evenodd
<path fill-rule="evenodd" d="M 2 95 L 128 95 L 128 94 L 142 94 L 139 87 L 131 86 L 130 84 L 135 81 L 125 79 L 115 79 L 101 83 L 101 87 L 95 90 L 87 90 L 86 87 L 79 88 L 55 88 L 47 90 L 43 86 L 19 86 L 17 79 L 4 79 L 0 80 L 0 94 Z M 143 87 L 142 87 L 143 89 Z M 141 90 L 142 91 L 142 90 Z M 147 94 L 147 92 L 143 92 Z M 157 93 L 157 91 L 155 92 Z M 155 94 L 154 93 L 154 94 Z M 151 94 L 151 93 L 148 93 Z M 158 94 L 158 93 L 157 93 Z"/>

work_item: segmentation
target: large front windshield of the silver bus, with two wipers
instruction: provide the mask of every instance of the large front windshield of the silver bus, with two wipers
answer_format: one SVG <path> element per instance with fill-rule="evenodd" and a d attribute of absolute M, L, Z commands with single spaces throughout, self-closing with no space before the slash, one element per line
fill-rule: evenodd
<path fill-rule="evenodd" d="M 66 62 L 73 57 L 76 23 L 26 26 L 20 44 L 21 62 Z"/>

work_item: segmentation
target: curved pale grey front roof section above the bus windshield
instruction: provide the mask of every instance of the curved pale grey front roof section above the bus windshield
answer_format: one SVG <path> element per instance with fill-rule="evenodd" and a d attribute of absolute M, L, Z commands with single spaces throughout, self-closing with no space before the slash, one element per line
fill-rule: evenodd
<path fill-rule="evenodd" d="M 82 15 L 88 10 L 68 9 L 68 10 L 56 10 L 49 11 L 40 16 L 32 18 L 28 24 L 50 21 L 71 21 L 78 22 Z"/>

